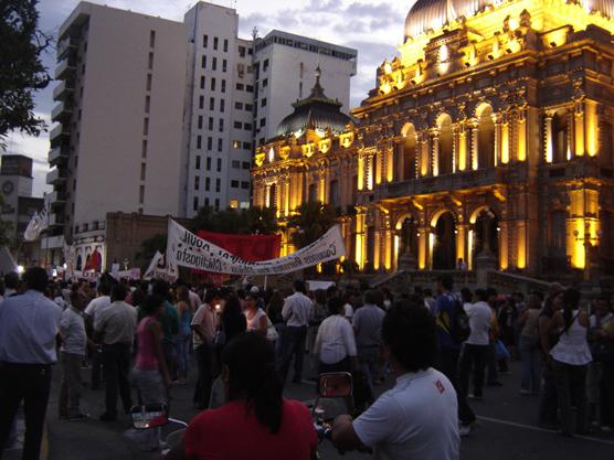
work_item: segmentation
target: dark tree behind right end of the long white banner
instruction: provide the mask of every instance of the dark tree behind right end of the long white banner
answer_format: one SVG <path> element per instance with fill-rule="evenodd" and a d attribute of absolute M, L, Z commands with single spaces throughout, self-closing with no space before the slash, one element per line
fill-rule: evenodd
<path fill-rule="evenodd" d="M 311 244 L 337 223 L 337 211 L 330 204 L 319 201 L 303 203 L 288 221 L 288 227 L 295 228 L 293 244 L 298 248 Z"/>

